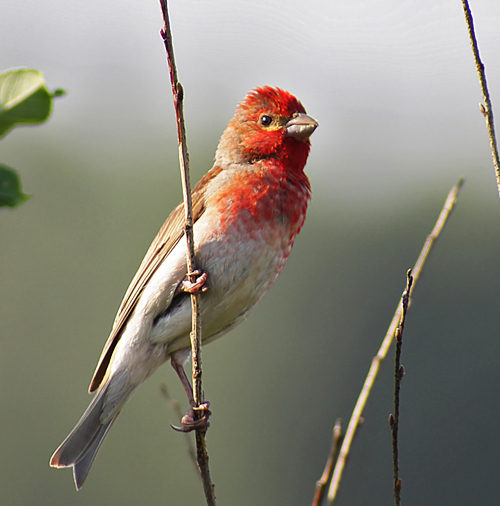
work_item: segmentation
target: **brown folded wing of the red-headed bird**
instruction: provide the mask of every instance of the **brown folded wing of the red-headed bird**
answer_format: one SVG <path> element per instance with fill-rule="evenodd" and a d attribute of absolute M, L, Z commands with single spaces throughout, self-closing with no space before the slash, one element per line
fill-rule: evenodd
<path fill-rule="evenodd" d="M 214 167 L 208 172 L 194 187 L 191 196 L 193 202 L 193 222 L 202 216 L 205 211 L 205 190 L 207 184 L 219 174 L 222 169 Z M 101 353 L 99 363 L 90 382 L 89 392 L 97 390 L 101 384 L 106 370 L 111 361 L 113 352 L 121 337 L 121 332 L 127 323 L 132 311 L 144 290 L 144 287 L 156 272 L 163 260 L 172 251 L 175 245 L 184 235 L 184 204 L 179 204 L 167 218 L 161 227 L 158 235 L 153 240 L 151 246 L 142 261 L 139 270 L 128 287 L 127 293 L 118 309 L 111 334 Z"/>

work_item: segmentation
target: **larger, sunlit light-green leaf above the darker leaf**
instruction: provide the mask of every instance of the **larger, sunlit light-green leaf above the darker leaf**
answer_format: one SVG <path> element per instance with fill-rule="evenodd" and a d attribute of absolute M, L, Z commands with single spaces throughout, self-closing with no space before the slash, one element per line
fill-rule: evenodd
<path fill-rule="evenodd" d="M 0 74 L 0 137 L 23 123 L 42 123 L 48 119 L 54 96 L 37 70 L 13 70 Z"/>

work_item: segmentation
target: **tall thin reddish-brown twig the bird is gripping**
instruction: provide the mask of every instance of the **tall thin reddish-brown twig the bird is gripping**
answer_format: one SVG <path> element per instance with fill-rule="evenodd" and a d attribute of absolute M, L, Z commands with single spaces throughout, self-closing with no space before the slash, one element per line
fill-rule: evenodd
<path fill-rule="evenodd" d="M 179 139 L 179 161 L 182 174 L 182 193 L 185 206 L 185 232 L 188 246 L 187 270 L 189 279 L 194 283 L 196 278 L 194 265 L 194 238 L 193 238 L 193 213 L 191 202 L 191 184 L 189 180 L 189 156 L 187 152 L 186 130 L 184 126 L 183 98 L 184 90 L 177 80 L 177 68 L 175 66 L 174 47 L 170 20 L 168 17 L 167 0 L 160 0 L 163 13 L 164 26 L 161 30 L 165 50 L 167 52 L 168 68 L 170 71 L 170 82 L 172 84 L 172 95 L 174 98 L 175 114 L 177 117 L 177 136 Z M 192 305 L 192 331 L 191 331 L 191 354 L 193 362 L 193 396 L 196 406 L 203 403 L 202 370 L 201 370 L 201 318 L 199 310 L 199 293 L 191 294 Z M 201 415 L 197 410 L 195 416 Z M 205 431 L 196 431 L 196 460 L 203 481 L 203 490 L 208 506 L 215 506 L 215 491 L 210 478 L 208 467 L 208 453 L 205 439 Z"/>

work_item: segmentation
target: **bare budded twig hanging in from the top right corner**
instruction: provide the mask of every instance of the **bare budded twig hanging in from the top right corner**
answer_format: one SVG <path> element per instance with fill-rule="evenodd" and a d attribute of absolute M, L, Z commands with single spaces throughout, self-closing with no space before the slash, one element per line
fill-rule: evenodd
<path fill-rule="evenodd" d="M 488 85 L 486 83 L 486 72 L 484 70 L 484 64 L 479 56 L 479 48 L 477 45 L 476 32 L 474 31 L 474 20 L 472 18 L 472 12 L 469 7 L 467 0 L 462 0 L 464 8 L 465 21 L 467 22 L 467 28 L 469 30 L 469 38 L 472 46 L 472 53 L 474 54 L 474 61 L 476 63 L 477 75 L 479 77 L 479 84 L 481 85 L 481 91 L 483 93 L 484 105 L 480 104 L 480 110 L 486 119 L 486 128 L 488 129 L 488 138 L 490 140 L 491 156 L 493 157 L 493 165 L 495 167 L 495 175 L 497 178 L 498 194 L 500 196 L 500 160 L 498 157 L 497 139 L 495 136 L 495 123 L 493 122 L 493 107 L 491 105 L 490 93 L 488 91 Z"/>

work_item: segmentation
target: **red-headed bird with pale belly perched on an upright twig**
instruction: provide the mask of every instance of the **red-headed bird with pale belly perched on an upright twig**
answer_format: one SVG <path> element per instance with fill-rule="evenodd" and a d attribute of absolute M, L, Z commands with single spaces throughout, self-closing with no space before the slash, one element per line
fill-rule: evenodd
<path fill-rule="evenodd" d="M 311 198 L 304 168 L 317 127 L 301 102 L 280 88 L 255 88 L 238 105 L 212 169 L 192 191 L 196 281 L 187 277 L 179 204 L 119 307 L 90 383 L 90 405 L 52 455 L 52 467 L 73 467 L 77 490 L 127 400 L 163 363 L 171 361 L 193 405 L 183 369 L 191 353 L 189 294 L 203 292 L 205 345 L 241 323 L 278 277 Z M 189 415 L 183 423 L 186 430 L 200 427 Z"/>

